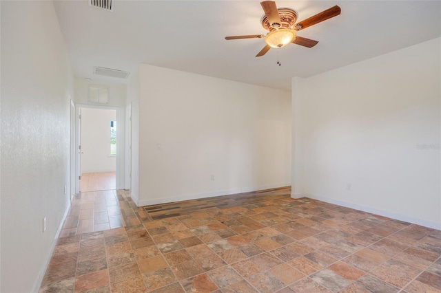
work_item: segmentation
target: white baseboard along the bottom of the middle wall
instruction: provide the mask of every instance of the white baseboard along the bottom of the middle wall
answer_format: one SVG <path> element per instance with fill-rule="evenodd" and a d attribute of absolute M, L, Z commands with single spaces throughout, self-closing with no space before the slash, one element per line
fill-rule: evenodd
<path fill-rule="evenodd" d="M 153 204 L 167 204 L 169 202 L 182 202 L 183 200 L 189 200 L 189 199 L 200 199 L 200 198 L 206 198 L 206 197 L 216 197 L 220 195 L 234 195 L 236 193 L 249 193 L 252 191 L 263 191 L 265 189 L 271 189 L 271 188 L 281 188 L 285 186 L 289 186 L 291 184 L 289 183 L 283 183 L 283 184 L 271 184 L 271 185 L 263 185 L 263 186 L 256 186 L 256 187 L 247 187 L 247 188 L 236 188 L 236 189 L 230 189 L 228 191 L 214 191 L 212 193 L 199 193 L 194 195 L 180 195 L 180 196 L 174 196 L 174 197 L 165 197 L 165 198 L 155 198 L 155 199 L 144 199 L 140 200 L 136 203 L 136 206 L 151 206 Z"/>

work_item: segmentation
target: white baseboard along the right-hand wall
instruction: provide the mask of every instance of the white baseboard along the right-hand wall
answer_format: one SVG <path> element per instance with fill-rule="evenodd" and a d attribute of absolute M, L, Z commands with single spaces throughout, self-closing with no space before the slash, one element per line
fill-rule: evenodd
<path fill-rule="evenodd" d="M 389 212 L 388 210 L 380 210 L 378 208 L 371 208 L 370 206 L 361 206 L 359 204 L 353 204 L 351 202 L 344 202 L 342 200 L 331 199 L 328 197 L 320 197 L 320 196 L 311 195 L 311 194 L 305 194 L 304 196 L 309 197 L 311 199 L 320 200 L 320 202 L 327 202 L 329 204 L 337 204 L 338 206 L 345 206 L 347 208 L 362 210 L 363 212 L 372 213 L 372 214 L 380 215 L 383 217 L 389 217 L 391 219 L 397 219 L 399 221 L 406 221 L 408 223 L 424 226 L 427 228 L 441 230 L 441 223 L 436 222 L 436 221 L 428 221 L 425 219 L 410 217 L 408 215 L 402 215 L 402 214 L 398 214 L 398 213 Z M 292 197 L 292 194 L 291 194 L 291 197 Z M 293 197 L 293 198 L 295 198 L 295 197 Z"/>

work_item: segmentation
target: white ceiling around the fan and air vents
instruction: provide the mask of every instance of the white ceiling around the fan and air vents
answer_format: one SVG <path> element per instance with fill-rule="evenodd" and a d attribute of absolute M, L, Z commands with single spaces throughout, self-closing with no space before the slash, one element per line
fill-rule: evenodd
<path fill-rule="evenodd" d="M 256 58 L 263 39 L 224 37 L 267 32 L 259 1 L 115 1 L 113 12 L 85 0 L 54 1 L 78 78 L 124 83 L 94 75 L 94 66 L 133 74 L 147 63 L 290 90 L 292 76 L 313 76 L 441 36 L 441 1 L 276 1 L 278 8 L 296 10 L 298 21 L 334 5 L 342 12 L 298 32 L 319 41 L 315 47 L 290 44 Z"/>

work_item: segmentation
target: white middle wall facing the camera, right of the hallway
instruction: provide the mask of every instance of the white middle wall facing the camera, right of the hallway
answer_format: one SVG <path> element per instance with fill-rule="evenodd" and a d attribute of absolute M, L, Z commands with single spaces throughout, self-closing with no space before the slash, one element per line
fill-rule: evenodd
<path fill-rule="evenodd" d="M 139 205 L 291 183 L 288 91 L 141 65 L 139 113 Z"/>

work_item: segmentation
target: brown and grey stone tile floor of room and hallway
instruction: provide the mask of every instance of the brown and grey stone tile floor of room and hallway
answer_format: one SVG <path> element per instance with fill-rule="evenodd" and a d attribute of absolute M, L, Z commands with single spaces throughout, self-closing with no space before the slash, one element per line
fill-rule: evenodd
<path fill-rule="evenodd" d="M 113 195 L 76 198 L 40 292 L 441 292 L 440 230 L 289 188 L 194 210 Z"/>

